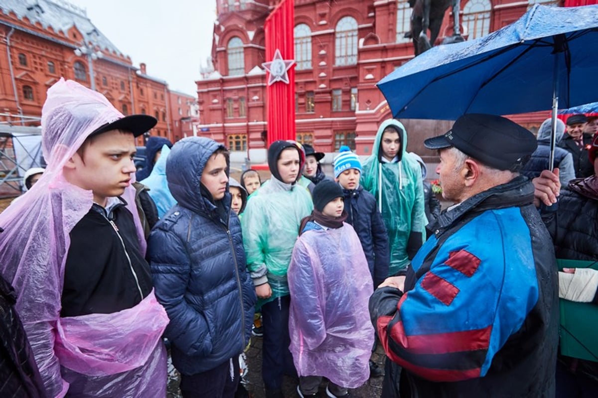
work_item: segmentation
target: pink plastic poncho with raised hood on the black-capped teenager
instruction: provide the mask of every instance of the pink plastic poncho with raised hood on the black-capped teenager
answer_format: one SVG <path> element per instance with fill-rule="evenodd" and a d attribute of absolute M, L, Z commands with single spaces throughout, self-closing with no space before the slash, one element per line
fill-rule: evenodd
<path fill-rule="evenodd" d="M 168 318 L 154 292 L 120 313 L 60 318 L 69 232 L 93 203 L 91 191 L 65 180 L 63 166 L 92 131 L 121 117 L 102 94 L 60 79 L 48 90 L 42 109 L 48 167 L 38 183 L 0 214 L 5 229 L 0 234 L 0 272 L 19 295 L 17 311 L 51 397 L 67 391 L 73 396 L 166 396 L 161 333 Z M 145 253 L 135 188 L 129 186 L 123 198 Z"/>

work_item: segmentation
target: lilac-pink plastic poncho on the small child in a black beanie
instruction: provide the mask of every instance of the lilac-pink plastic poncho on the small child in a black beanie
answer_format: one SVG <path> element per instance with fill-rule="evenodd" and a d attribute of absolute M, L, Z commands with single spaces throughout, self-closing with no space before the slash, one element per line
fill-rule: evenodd
<path fill-rule="evenodd" d="M 373 282 L 353 227 L 304 232 L 287 277 L 289 348 L 299 375 L 325 376 L 346 388 L 364 384 L 374 344 Z"/>

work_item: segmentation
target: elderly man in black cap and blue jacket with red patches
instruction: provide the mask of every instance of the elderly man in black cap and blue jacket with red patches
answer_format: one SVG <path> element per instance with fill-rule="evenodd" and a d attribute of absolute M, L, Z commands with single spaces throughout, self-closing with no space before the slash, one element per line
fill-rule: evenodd
<path fill-rule="evenodd" d="M 425 145 L 438 149 L 443 196 L 456 204 L 431 225 L 406 278 L 371 296 L 390 358 L 383 396 L 554 396 L 554 252 L 533 185 L 518 174 L 533 134 L 469 114 Z"/>

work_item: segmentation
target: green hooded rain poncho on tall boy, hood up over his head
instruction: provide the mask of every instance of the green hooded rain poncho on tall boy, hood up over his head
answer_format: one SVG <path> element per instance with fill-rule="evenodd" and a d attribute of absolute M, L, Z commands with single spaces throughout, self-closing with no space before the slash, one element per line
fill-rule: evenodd
<path fill-rule="evenodd" d="M 392 125 L 399 131 L 401 149 L 398 162 L 383 163 L 382 132 Z M 425 237 L 428 224 L 424 212 L 422 169 L 416 160 L 407 154 L 405 127 L 396 120 L 386 120 L 378 129 L 372 154 L 364 163 L 361 185 L 376 197 L 378 210 L 388 229 L 390 244 L 389 275 L 407 267 L 410 258 L 408 246 L 418 249 Z M 408 245 L 409 244 L 409 245 Z M 413 250 L 410 250 L 410 253 Z M 413 253 L 411 253 L 413 256 Z"/>

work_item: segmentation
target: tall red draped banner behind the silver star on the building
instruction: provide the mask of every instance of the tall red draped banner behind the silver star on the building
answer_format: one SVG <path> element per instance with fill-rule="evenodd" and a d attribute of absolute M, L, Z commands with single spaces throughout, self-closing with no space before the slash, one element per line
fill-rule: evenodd
<path fill-rule="evenodd" d="M 270 13 L 264 25 L 266 32 L 266 62 L 274 59 L 276 50 L 283 60 L 295 59 L 294 46 L 294 0 L 282 0 Z M 276 140 L 295 140 L 295 66 L 286 71 L 288 84 L 276 81 L 268 85 L 267 131 L 268 147 Z M 270 72 L 266 81 L 270 81 Z"/>

